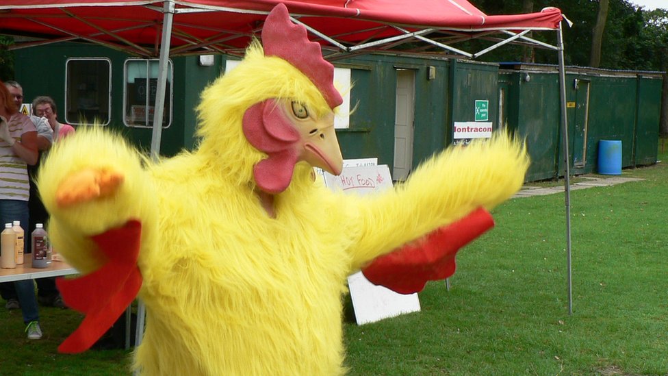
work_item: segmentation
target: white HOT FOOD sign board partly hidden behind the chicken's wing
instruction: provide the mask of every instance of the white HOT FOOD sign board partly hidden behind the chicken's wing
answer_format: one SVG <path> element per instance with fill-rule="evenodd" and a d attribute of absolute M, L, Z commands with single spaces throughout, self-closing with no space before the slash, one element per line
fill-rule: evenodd
<path fill-rule="evenodd" d="M 376 161 L 361 160 L 363 164 L 366 162 Z M 355 164 L 357 162 L 348 161 L 348 163 Z M 324 178 L 328 187 L 339 188 L 357 195 L 365 195 L 392 186 L 392 177 L 385 164 L 381 166 L 347 167 L 339 176 L 324 173 Z M 383 286 L 376 286 L 366 279 L 361 272 L 348 277 L 348 288 L 357 325 L 374 323 L 383 318 L 420 311 L 418 294 L 404 295 Z"/>

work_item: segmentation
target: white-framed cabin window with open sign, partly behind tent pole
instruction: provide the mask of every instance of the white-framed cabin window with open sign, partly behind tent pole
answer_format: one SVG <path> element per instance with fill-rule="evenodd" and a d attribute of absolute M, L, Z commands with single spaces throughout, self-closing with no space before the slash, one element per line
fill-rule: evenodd
<path fill-rule="evenodd" d="M 123 95 L 123 123 L 128 127 L 153 127 L 155 93 L 159 60 L 129 59 L 125 61 L 125 89 Z M 167 87 L 165 92 L 162 127 L 172 123 L 172 62 L 167 64 Z"/>

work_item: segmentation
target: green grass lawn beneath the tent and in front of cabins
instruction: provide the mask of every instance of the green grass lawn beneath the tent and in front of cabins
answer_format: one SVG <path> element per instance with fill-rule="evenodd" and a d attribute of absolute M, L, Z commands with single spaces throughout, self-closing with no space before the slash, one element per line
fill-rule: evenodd
<path fill-rule="evenodd" d="M 571 191 L 573 314 L 563 194 L 512 199 L 420 292 L 421 312 L 344 323 L 350 375 L 668 375 L 668 155 L 644 181 Z M 44 339 L 0 308 L 1 375 L 123 375 L 129 352 L 62 355 L 81 316 L 41 308 Z M 304 354 L 309 356 L 309 354 Z"/>

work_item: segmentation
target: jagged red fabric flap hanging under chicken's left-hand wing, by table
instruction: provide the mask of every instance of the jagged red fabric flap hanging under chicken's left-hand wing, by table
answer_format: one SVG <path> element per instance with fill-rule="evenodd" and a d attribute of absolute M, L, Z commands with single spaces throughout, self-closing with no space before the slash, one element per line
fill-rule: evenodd
<path fill-rule="evenodd" d="M 88 275 L 57 279 L 65 303 L 86 314 L 81 325 L 60 344 L 59 352 L 81 353 L 90 349 L 135 299 L 142 286 L 137 266 L 141 235 L 141 223 L 131 220 L 123 227 L 93 236 L 107 262 Z"/>

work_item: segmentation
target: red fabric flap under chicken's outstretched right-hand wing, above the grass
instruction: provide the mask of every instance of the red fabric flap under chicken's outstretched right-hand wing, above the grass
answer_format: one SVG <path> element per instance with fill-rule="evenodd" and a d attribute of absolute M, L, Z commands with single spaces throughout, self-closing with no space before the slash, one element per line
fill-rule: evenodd
<path fill-rule="evenodd" d="M 400 294 L 420 292 L 427 281 L 454 274 L 457 251 L 493 226 L 491 214 L 479 208 L 417 242 L 376 258 L 362 273 L 372 284 Z"/>

